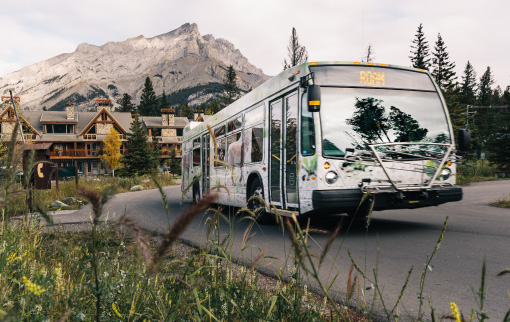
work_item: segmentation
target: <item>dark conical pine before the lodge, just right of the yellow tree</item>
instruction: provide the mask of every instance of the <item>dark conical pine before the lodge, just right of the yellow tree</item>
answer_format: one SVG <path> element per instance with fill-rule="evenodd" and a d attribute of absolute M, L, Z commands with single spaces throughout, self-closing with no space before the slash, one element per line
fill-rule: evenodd
<path fill-rule="evenodd" d="M 135 115 L 130 129 L 131 133 L 128 133 L 126 143 L 128 154 L 124 157 L 127 173 L 134 176 L 156 172 L 153 149 L 138 114 Z"/>

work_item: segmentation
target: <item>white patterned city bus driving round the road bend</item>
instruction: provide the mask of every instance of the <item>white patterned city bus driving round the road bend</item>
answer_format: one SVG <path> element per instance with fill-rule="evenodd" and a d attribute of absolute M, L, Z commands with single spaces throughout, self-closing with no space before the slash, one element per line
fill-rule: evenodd
<path fill-rule="evenodd" d="M 445 100 L 421 69 L 303 63 L 190 122 L 183 150 L 183 198 L 216 189 L 219 204 L 261 210 L 260 223 L 353 216 L 362 200 L 385 210 L 462 199 Z"/>

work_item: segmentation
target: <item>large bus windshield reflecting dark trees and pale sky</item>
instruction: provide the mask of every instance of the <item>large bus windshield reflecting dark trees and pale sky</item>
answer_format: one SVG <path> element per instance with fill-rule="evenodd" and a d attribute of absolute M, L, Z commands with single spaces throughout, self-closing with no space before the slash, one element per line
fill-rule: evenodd
<path fill-rule="evenodd" d="M 451 143 L 436 92 L 379 88 L 321 88 L 324 156 L 369 150 L 390 142 Z"/>

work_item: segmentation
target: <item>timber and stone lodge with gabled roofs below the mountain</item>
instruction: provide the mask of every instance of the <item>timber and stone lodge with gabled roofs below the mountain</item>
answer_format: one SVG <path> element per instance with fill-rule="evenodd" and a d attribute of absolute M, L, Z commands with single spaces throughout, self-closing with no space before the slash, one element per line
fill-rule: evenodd
<path fill-rule="evenodd" d="M 2 96 L 0 107 L 1 141 L 10 141 L 16 123 L 11 98 Z M 103 140 L 113 127 L 122 141 L 121 154 L 126 149 L 127 134 L 131 133 L 131 113 L 115 112 L 111 101 L 96 99 L 95 112 L 78 112 L 72 102 L 67 102 L 65 111 L 22 111 L 20 98 L 14 97 L 23 128 L 23 136 L 30 143 L 52 143 L 50 160 L 59 167 L 77 166 L 84 175 L 98 175 L 109 172 L 107 165 L 100 161 Z M 161 116 L 140 116 L 147 129 L 149 140 L 155 137 L 161 144 L 161 167 L 168 166 L 169 155 L 175 149 L 176 157 L 182 158 L 183 129 L 189 120 L 176 117 L 174 110 L 164 108 Z M 21 138 L 18 138 L 21 141 Z"/>

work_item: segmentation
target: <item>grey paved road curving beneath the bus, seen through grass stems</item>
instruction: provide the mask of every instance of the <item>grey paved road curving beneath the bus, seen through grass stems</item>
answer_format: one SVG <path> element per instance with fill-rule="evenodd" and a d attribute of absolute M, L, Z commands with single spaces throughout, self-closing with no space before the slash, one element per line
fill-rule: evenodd
<path fill-rule="evenodd" d="M 169 217 L 163 210 L 157 190 L 148 190 L 115 196 L 106 207 L 109 220 L 126 213 L 145 229 L 163 232 L 177 214 L 189 206 L 189 203 L 180 204 L 178 186 L 166 187 L 165 192 L 169 201 Z M 414 267 L 399 313 L 401 316 L 415 316 L 421 272 L 449 216 L 443 242 L 431 262 L 432 270 L 427 272 L 424 309 L 430 312 L 430 300 L 439 315 L 449 314 L 450 302 L 454 301 L 469 316 L 471 308 L 477 309 L 474 293 L 479 288 L 482 263 L 486 258 L 487 296 L 484 308 L 491 320 L 501 321 L 510 308 L 510 276 L 496 275 L 510 267 L 510 209 L 489 207 L 488 203 L 509 194 L 510 181 L 477 183 L 464 188 L 464 200 L 461 202 L 434 208 L 376 212 L 368 231 L 360 227 L 351 228 L 349 232 L 341 230 L 321 267 L 321 278 L 331 281 L 339 273 L 332 290 L 334 294 L 345 294 L 351 266 L 347 250 L 350 250 L 358 265 L 366 269 L 368 277 L 373 278 L 373 268 L 377 266 L 383 299 L 387 307 L 393 307 L 409 269 Z M 55 219 L 61 222 L 87 221 L 89 211 L 85 207 L 74 214 L 57 215 Z M 183 238 L 204 245 L 206 218 L 208 216 L 197 219 Z M 338 221 L 338 216 L 331 216 L 312 220 L 312 226 L 331 231 Z M 266 259 L 261 262 L 261 270 L 276 274 L 278 267 L 288 265 L 286 259 L 291 253 L 290 243 L 278 227 L 253 228 L 256 235 L 249 241 L 248 247 L 241 250 L 241 239 L 248 222 L 233 218 L 232 223 L 236 234 L 232 243 L 234 258 L 249 263 L 263 250 Z M 228 226 L 222 225 L 221 232 L 228 232 Z M 320 253 L 321 248 L 317 245 L 323 246 L 328 236 L 314 233 L 310 237 L 312 251 Z M 315 285 L 313 281 L 309 283 L 312 287 Z M 372 297 L 373 292 L 366 291 L 367 297 Z M 379 310 L 382 312 L 380 304 Z"/>

